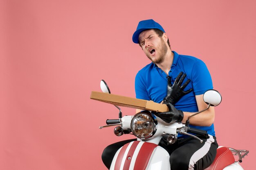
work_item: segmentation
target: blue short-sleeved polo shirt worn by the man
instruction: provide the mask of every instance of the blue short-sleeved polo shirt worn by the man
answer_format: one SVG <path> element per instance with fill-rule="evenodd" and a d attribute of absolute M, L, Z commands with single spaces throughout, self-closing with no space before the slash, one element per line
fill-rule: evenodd
<path fill-rule="evenodd" d="M 168 76 L 171 77 L 172 84 L 180 72 L 186 73 L 186 78 L 183 83 L 190 79 L 190 83 L 184 91 L 193 88 L 193 92 L 183 96 L 176 104 L 175 108 L 187 112 L 197 112 L 198 107 L 195 100 L 195 95 L 204 94 L 209 89 L 213 89 L 211 75 L 205 63 L 192 56 L 180 55 L 173 51 L 174 58 L 171 70 Z M 167 75 L 164 71 L 157 67 L 154 63 L 146 65 L 139 70 L 135 77 L 135 92 L 136 98 L 144 100 L 153 100 L 160 103 L 167 94 Z M 182 85 L 183 85 L 182 83 Z M 201 113 L 203 114 L 203 113 Z M 208 134 L 215 136 L 214 126 L 193 126 L 191 127 L 202 129 Z"/>

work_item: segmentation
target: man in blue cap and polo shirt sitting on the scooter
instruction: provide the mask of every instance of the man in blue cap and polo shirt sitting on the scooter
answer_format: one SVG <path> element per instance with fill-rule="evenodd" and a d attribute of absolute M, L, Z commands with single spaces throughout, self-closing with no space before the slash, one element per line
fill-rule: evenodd
<path fill-rule="evenodd" d="M 136 98 L 158 103 L 163 101 L 169 107 L 168 112 L 154 113 L 156 116 L 167 123 L 185 123 L 191 114 L 207 107 L 202 95 L 213 87 L 209 71 L 201 60 L 171 51 L 167 34 L 154 20 L 139 22 L 132 41 L 139 44 L 152 61 L 136 75 Z M 213 121 L 213 107 L 190 119 L 191 127 L 208 132 L 209 139 L 204 138 L 203 143 L 184 135 L 179 135 L 175 144 L 163 139 L 160 141 L 159 146 L 170 154 L 171 170 L 202 170 L 210 166 L 218 148 Z M 133 140 L 117 142 L 105 148 L 103 163 L 110 168 L 115 152 Z"/>

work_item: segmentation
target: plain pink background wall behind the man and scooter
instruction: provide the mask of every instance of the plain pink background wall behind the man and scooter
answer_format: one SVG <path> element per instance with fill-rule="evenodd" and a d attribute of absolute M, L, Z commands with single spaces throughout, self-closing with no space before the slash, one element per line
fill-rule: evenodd
<path fill-rule="evenodd" d="M 254 169 L 255 7 L 254 0 L 1 0 L 0 169 L 106 169 L 102 150 L 133 136 L 100 130 L 118 110 L 90 93 L 104 79 L 113 94 L 135 97 L 135 75 L 149 60 L 131 39 L 150 18 L 173 50 L 207 64 L 222 94 L 218 143 L 249 150 L 241 165 Z"/>

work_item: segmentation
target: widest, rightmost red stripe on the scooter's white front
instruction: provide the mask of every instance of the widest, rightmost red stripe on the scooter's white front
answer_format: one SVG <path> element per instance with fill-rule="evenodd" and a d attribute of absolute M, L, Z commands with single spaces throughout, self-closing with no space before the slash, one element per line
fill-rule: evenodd
<path fill-rule="evenodd" d="M 145 142 L 139 150 L 133 170 L 146 170 L 151 154 L 157 146 L 156 144 Z"/>

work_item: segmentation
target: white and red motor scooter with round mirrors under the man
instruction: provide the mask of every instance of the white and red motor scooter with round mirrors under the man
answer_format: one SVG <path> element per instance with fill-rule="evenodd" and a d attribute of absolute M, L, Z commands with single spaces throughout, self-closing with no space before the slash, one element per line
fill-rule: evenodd
<path fill-rule="evenodd" d="M 110 94 L 110 89 L 104 80 L 101 80 L 101 90 Z M 203 99 L 208 107 L 189 116 L 185 124 L 181 122 L 168 124 L 149 111 L 141 111 L 134 116 L 122 116 L 121 109 L 115 105 L 119 109 L 119 119 L 108 119 L 107 125 L 99 128 L 117 126 L 114 129 L 115 135 L 133 134 L 137 137 L 137 141 L 125 144 L 115 153 L 110 170 L 170 170 L 170 155 L 158 144 L 162 138 L 174 144 L 178 133 L 194 137 L 202 143 L 203 140 L 196 135 L 207 137 L 207 131 L 189 127 L 189 119 L 206 111 L 210 106 L 219 105 L 222 98 L 218 91 L 208 90 L 204 93 Z M 248 153 L 248 150 L 219 146 L 213 163 L 206 170 L 243 170 L 239 163 Z M 238 157 L 237 161 L 234 156 Z"/>

